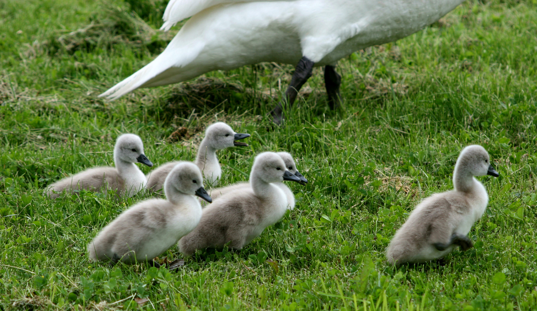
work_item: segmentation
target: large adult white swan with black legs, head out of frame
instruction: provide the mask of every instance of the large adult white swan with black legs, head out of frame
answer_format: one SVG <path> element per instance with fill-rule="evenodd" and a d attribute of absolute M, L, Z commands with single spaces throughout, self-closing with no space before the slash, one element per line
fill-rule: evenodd
<path fill-rule="evenodd" d="M 434 23 L 464 0 L 171 0 L 163 29 L 187 17 L 155 60 L 100 96 L 115 99 L 138 87 L 166 85 L 212 70 L 259 62 L 297 64 L 285 99 L 272 110 L 282 120 L 314 66 L 325 66 L 329 105 L 339 103 L 340 58 L 404 38 Z"/>

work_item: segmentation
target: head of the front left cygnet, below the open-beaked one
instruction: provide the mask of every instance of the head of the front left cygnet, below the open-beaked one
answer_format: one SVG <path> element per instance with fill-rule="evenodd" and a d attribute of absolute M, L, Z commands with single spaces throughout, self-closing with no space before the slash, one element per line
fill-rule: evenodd
<path fill-rule="evenodd" d="M 170 197 L 172 193 L 180 192 L 186 195 L 195 195 L 211 203 L 211 196 L 203 187 L 203 177 L 197 165 L 192 162 L 179 162 L 164 181 L 164 194 Z"/>

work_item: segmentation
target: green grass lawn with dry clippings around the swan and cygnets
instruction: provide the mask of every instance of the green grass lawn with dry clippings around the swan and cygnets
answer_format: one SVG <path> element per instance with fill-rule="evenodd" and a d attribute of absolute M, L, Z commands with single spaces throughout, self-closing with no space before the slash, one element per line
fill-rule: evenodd
<path fill-rule="evenodd" d="M 336 112 L 315 69 L 281 128 L 266 113 L 289 65 L 97 98 L 171 38 L 153 30 L 151 5 L 164 4 L 0 2 L 0 309 L 536 308 L 537 1 L 467 1 L 441 23 L 358 51 L 339 62 L 344 105 Z M 200 251 L 171 273 L 110 269 L 91 263 L 85 246 L 143 197 L 42 196 L 63 176 L 112 165 L 123 132 L 140 135 L 156 165 L 192 160 L 217 120 L 252 134 L 250 147 L 219 153 L 222 184 L 246 180 L 266 150 L 292 152 L 310 181 L 289 185 L 295 210 L 241 251 Z M 192 137 L 170 142 L 176 127 Z M 468 144 L 483 145 L 500 173 L 481 178 L 490 203 L 469 234 L 475 248 L 399 269 L 384 264 L 413 206 L 452 188 Z M 173 247 L 165 256 L 180 254 Z"/>

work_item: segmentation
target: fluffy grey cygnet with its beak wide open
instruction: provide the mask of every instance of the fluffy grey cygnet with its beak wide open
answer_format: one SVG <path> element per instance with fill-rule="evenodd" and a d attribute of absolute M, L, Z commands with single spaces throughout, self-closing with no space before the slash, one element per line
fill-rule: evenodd
<path fill-rule="evenodd" d="M 222 176 L 222 169 L 220 168 L 218 158 L 216 158 L 216 150 L 233 146 L 248 146 L 248 144 L 237 141 L 246 137 L 250 137 L 250 134 L 238 134 L 228 124 L 223 122 L 216 122 L 207 128 L 205 137 L 201 140 L 198 156 L 194 163 L 203 172 L 205 182 L 208 186 L 216 186 Z M 150 172 L 147 175 L 147 189 L 150 191 L 162 189 L 166 176 L 176 164 L 177 161 L 168 162 Z"/>

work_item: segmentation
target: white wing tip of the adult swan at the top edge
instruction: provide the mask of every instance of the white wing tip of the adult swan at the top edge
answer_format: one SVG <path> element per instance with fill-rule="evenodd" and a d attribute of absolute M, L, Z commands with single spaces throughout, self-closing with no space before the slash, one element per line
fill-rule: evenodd
<path fill-rule="evenodd" d="M 187 17 L 191 17 L 194 14 L 201 12 L 211 6 L 219 5 L 222 3 L 235 3 L 235 2 L 258 2 L 258 1 L 281 1 L 281 0 L 171 0 L 166 6 L 162 19 L 164 24 L 161 29 L 168 31 L 173 25 Z M 286 0 L 295 1 L 295 0 Z"/>

